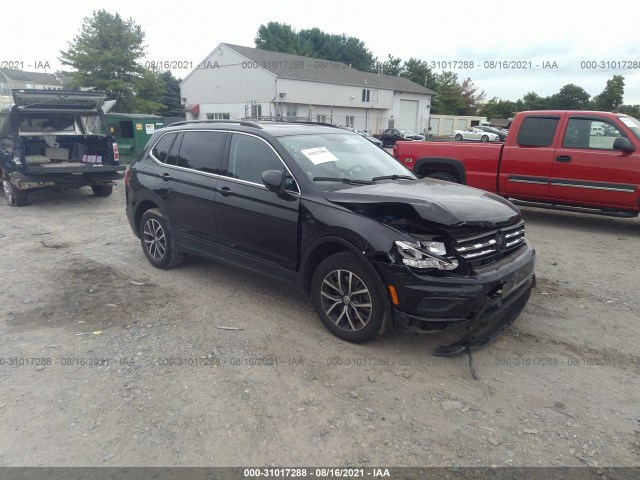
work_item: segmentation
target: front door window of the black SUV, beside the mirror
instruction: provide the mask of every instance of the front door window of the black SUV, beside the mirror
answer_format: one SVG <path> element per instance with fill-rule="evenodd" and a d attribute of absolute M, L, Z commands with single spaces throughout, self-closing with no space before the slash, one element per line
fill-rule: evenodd
<path fill-rule="evenodd" d="M 227 176 L 263 185 L 262 172 L 283 169 L 280 157 L 263 140 L 242 134 L 231 137 Z"/>

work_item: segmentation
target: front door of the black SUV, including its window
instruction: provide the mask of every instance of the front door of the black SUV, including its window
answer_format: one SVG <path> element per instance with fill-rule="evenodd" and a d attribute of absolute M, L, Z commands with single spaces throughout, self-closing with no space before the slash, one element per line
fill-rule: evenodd
<path fill-rule="evenodd" d="M 288 193 L 262 183 L 265 170 L 285 171 Z M 298 263 L 297 186 L 263 139 L 234 133 L 227 166 L 216 189 L 220 258 L 262 274 L 293 281 Z"/>

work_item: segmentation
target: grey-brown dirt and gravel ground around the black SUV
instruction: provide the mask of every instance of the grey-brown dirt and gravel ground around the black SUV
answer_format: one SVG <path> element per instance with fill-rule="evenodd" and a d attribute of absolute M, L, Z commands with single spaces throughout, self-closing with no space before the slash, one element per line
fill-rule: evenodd
<path fill-rule="evenodd" d="M 153 268 L 122 183 L 0 200 L 0 466 L 640 465 L 638 219 L 524 208 L 538 286 L 475 380 L 442 335 L 352 345 L 286 285 Z"/>

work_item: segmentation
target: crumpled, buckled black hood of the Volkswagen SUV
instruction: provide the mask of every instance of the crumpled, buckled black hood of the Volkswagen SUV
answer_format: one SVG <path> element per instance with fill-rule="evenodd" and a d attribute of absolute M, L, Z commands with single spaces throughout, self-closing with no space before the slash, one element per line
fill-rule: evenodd
<path fill-rule="evenodd" d="M 430 178 L 354 185 L 336 191 L 325 191 L 323 194 L 328 201 L 343 206 L 407 204 L 424 220 L 452 227 L 501 227 L 520 220 L 520 210 L 498 195 Z"/>

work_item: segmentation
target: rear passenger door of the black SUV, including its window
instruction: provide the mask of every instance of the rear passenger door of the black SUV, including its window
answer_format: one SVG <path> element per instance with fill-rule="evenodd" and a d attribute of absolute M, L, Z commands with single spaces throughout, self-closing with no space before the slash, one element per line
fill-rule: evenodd
<path fill-rule="evenodd" d="M 214 199 L 226 135 L 215 131 L 178 134 L 157 187 L 176 240 L 210 257 L 217 254 Z"/>

